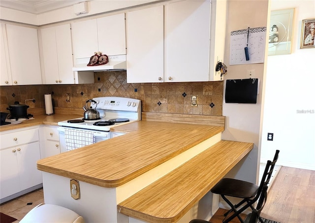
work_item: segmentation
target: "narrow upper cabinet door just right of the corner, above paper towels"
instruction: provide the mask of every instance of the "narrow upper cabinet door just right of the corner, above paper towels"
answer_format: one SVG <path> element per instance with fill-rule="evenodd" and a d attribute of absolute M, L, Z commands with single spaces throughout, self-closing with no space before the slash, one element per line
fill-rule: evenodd
<path fill-rule="evenodd" d="M 59 83 L 55 27 L 41 29 L 45 84 Z"/>

